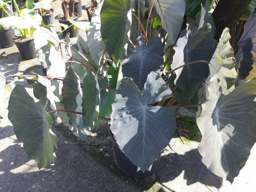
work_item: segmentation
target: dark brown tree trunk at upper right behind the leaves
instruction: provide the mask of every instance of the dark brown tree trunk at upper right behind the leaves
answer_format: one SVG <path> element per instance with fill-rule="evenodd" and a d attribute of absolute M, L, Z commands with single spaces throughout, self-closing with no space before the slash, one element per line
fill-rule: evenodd
<path fill-rule="evenodd" d="M 217 41 L 219 41 L 223 29 L 228 27 L 232 38 L 230 42 L 233 44 L 232 47 L 235 47 L 237 43 L 234 40 L 237 39 L 235 36 L 236 25 L 250 2 L 251 0 L 219 0 L 217 7 L 212 13 L 217 29 L 214 38 Z"/>

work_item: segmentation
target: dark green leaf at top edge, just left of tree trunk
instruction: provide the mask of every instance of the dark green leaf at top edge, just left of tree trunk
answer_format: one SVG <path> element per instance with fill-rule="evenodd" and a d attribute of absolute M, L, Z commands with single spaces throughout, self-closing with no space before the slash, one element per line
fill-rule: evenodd
<path fill-rule="evenodd" d="M 185 14 L 192 18 L 195 19 L 196 14 L 200 11 L 201 9 L 201 3 L 204 5 L 207 0 L 185 0 L 186 1 L 186 12 Z M 208 5 L 207 12 L 210 11 L 212 8 L 215 0 L 209 0 L 210 4 Z"/>

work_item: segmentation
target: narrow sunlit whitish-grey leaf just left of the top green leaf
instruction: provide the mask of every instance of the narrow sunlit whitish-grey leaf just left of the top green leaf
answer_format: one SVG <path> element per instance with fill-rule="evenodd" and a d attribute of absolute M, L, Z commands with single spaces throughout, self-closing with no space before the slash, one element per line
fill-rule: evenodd
<path fill-rule="evenodd" d="M 104 0 L 98 3 L 98 6 L 95 8 L 95 12 L 92 16 L 92 21 L 89 26 L 87 40 L 88 48 L 92 57 L 92 60 L 99 66 L 101 59 L 103 57 L 104 51 L 106 49 L 104 41 L 100 33 L 100 11 Z"/>

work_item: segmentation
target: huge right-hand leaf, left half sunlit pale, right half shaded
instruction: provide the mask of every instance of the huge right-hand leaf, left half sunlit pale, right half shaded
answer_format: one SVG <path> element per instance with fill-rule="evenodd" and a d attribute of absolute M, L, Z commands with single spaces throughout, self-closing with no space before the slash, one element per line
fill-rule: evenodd
<path fill-rule="evenodd" d="M 256 142 L 256 78 L 226 96 L 221 93 L 220 79 L 213 78 L 196 120 L 202 133 L 198 151 L 210 171 L 232 182 Z"/>

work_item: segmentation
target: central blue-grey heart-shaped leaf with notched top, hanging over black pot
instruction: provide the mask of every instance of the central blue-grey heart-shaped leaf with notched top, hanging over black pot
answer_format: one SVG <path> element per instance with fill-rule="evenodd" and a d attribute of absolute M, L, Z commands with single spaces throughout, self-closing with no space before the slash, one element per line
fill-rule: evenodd
<path fill-rule="evenodd" d="M 148 75 L 143 91 L 123 78 L 112 104 L 110 130 L 124 154 L 145 171 L 169 144 L 176 128 L 175 108 L 153 107 L 171 96 L 157 73 Z"/>

